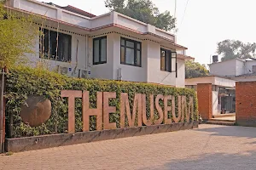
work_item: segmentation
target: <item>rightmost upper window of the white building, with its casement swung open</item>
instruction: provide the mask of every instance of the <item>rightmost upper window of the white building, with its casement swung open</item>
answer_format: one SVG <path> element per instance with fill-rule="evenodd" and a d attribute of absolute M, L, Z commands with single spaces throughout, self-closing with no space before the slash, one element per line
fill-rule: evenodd
<path fill-rule="evenodd" d="M 177 77 L 177 53 L 176 52 L 171 52 L 171 50 L 161 48 L 160 70 L 176 72 L 176 77 Z"/>

